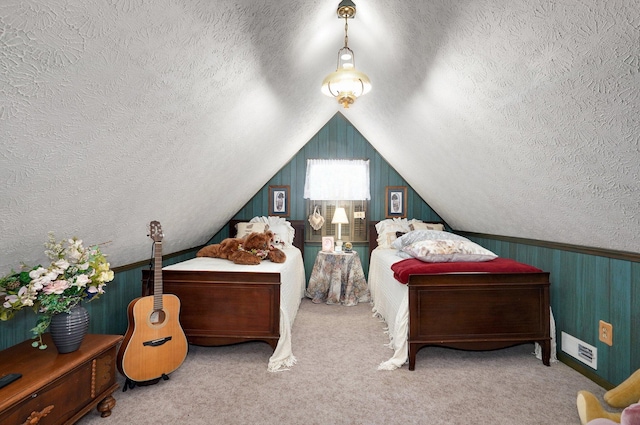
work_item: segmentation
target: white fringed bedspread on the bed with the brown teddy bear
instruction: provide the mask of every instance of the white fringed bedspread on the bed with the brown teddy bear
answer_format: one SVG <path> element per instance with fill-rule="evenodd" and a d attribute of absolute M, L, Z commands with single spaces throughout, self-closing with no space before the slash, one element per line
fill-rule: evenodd
<path fill-rule="evenodd" d="M 291 327 L 304 297 L 306 278 L 304 263 L 298 248 L 283 249 L 287 261 L 281 264 L 263 261 L 257 266 L 234 264 L 221 258 L 198 257 L 163 267 L 163 270 L 205 270 L 229 272 L 267 272 L 280 273 L 280 339 L 271 358 L 268 370 L 278 372 L 286 370 L 296 363 L 291 348 Z"/>

